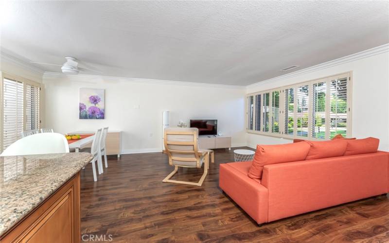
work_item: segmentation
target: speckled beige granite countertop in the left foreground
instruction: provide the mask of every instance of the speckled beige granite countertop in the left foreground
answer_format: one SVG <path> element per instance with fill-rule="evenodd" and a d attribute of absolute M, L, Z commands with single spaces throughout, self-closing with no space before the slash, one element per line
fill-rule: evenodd
<path fill-rule="evenodd" d="M 0 157 L 0 235 L 92 159 L 88 153 Z"/>

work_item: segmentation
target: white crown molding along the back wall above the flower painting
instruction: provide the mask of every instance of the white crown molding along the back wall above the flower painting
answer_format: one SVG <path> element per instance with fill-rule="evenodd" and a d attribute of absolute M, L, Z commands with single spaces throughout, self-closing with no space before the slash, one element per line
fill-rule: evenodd
<path fill-rule="evenodd" d="M 183 81 L 171 81 L 171 80 L 159 80 L 159 79 L 144 79 L 144 78 L 127 78 L 127 77 L 115 77 L 115 76 L 103 76 L 103 75 L 88 75 L 77 74 L 67 75 L 60 72 L 45 72 L 43 74 L 43 80 L 50 78 L 68 78 L 71 81 L 83 81 L 83 82 L 96 82 L 96 81 L 124 81 L 136 84 L 160 84 L 160 85 L 178 85 L 178 86 L 191 86 L 191 87 L 214 87 L 214 88 L 231 88 L 231 89 L 246 89 L 245 86 L 238 85 L 219 85 L 219 84 L 207 84 L 207 83 L 194 83 Z"/>

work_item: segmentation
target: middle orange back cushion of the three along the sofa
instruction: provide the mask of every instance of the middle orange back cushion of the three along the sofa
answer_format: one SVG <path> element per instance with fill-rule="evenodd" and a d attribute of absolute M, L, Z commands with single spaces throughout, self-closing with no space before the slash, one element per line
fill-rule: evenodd
<path fill-rule="evenodd" d="M 329 141 L 308 141 L 305 140 L 311 146 L 306 159 L 318 159 L 329 158 L 336 156 L 343 156 L 347 147 L 347 140 L 335 139 Z"/>

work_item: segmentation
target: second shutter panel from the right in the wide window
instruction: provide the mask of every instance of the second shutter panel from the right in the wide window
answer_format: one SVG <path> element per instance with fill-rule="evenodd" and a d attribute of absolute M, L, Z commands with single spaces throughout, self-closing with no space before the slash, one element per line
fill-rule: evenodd
<path fill-rule="evenodd" d="M 326 81 L 312 85 L 312 138 L 326 138 L 326 93 Z"/>

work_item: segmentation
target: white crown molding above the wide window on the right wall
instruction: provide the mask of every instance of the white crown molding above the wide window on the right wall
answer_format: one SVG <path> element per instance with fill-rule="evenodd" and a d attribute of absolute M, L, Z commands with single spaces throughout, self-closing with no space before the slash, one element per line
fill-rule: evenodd
<path fill-rule="evenodd" d="M 246 88 L 254 88 L 254 87 L 259 87 L 259 86 L 262 86 L 262 85 L 268 84 L 268 83 L 276 83 L 276 82 L 279 82 L 279 81 L 282 81 L 282 80 L 285 80 L 285 79 L 288 79 L 288 78 L 293 78 L 293 77 L 296 77 L 296 76 L 300 76 L 300 75 L 303 75 L 303 74 L 307 74 L 307 73 L 318 71 L 318 70 L 322 70 L 322 69 L 332 68 L 332 67 L 335 67 L 337 65 L 353 62 L 353 61 L 356 61 L 356 60 L 359 60 L 359 59 L 363 59 L 363 58 L 367 58 L 367 57 L 370 57 L 370 56 L 382 54 L 382 53 L 385 53 L 385 52 L 389 52 L 389 43 L 388 44 L 384 44 L 382 46 L 374 47 L 374 48 L 371 48 L 371 49 L 368 49 L 368 50 L 365 50 L 365 51 L 362 51 L 362 52 L 357 52 L 357 53 L 354 53 L 354 54 L 351 54 L 351 55 L 348 55 L 348 56 L 343 56 L 343 57 L 337 58 L 337 59 L 332 60 L 332 61 L 320 63 L 318 65 L 311 66 L 309 68 L 297 70 L 297 71 L 294 71 L 294 72 L 291 72 L 291 73 L 288 73 L 288 74 L 284 74 L 284 75 L 277 76 L 277 77 L 274 77 L 274 78 L 266 79 L 264 81 L 260 81 L 260 82 L 254 83 L 252 85 L 248 85 L 248 86 L 246 86 Z"/>

